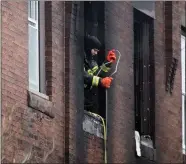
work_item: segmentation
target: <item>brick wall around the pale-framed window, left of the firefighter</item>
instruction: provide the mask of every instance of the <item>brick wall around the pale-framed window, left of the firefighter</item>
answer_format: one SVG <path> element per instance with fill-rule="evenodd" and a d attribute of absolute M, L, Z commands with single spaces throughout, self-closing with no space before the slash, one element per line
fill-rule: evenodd
<path fill-rule="evenodd" d="M 49 100 L 28 92 L 27 7 L 26 2 L 2 2 L 3 160 L 82 162 L 83 3 L 46 2 Z"/>

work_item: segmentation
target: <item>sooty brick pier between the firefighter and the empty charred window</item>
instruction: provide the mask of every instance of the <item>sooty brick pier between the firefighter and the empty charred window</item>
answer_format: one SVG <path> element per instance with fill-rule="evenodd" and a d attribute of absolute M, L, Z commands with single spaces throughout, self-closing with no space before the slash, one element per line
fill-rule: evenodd
<path fill-rule="evenodd" d="M 105 3 L 105 47 L 121 60 L 108 90 L 108 162 L 135 161 L 133 105 L 133 8 L 129 2 Z"/>

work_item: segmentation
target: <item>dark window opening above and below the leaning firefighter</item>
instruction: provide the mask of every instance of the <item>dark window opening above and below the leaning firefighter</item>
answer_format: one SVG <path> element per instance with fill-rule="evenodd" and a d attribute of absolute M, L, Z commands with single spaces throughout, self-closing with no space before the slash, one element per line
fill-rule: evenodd
<path fill-rule="evenodd" d="M 102 44 L 95 59 L 98 66 L 101 66 L 105 60 L 104 28 L 104 2 L 84 2 L 84 35 L 96 36 Z M 85 110 L 105 118 L 105 89 L 93 88 L 93 94 L 90 97 L 94 101 L 93 107 L 85 106 Z"/>

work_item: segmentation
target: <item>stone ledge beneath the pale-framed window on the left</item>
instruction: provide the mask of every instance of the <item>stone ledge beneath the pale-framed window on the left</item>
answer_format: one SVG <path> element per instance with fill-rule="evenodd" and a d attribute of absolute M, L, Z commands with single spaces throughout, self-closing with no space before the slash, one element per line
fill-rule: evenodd
<path fill-rule="evenodd" d="M 28 106 L 38 110 L 50 118 L 54 118 L 53 104 L 48 96 L 35 91 L 28 91 Z"/>

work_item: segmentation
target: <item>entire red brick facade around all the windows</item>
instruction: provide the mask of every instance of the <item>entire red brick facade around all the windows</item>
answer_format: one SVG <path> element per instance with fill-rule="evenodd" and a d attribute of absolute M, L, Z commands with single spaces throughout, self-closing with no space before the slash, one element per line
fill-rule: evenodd
<path fill-rule="evenodd" d="M 155 2 L 155 162 L 183 162 L 180 27 L 184 7 L 184 2 Z M 87 115 L 83 12 L 83 2 L 45 2 L 47 97 L 28 87 L 28 3 L 1 2 L 2 162 L 104 163 L 103 137 L 83 126 Z M 142 162 L 135 156 L 133 35 L 131 3 L 105 2 L 105 48 L 118 49 L 122 55 L 108 91 L 108 163 Z M 178 67 L 171 95 L 166 92 L 166 77 L 172 57 L 178 59 Z M 95 126 L 103 129 L 101 123 Z"/>

